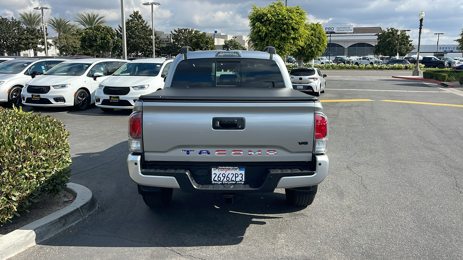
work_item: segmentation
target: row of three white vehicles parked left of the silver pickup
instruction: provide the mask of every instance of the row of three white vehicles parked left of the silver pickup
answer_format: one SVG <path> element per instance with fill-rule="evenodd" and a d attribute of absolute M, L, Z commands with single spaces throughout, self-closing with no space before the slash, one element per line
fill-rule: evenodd
<path fill-rule="evenodd" d="M 164 87 L 172 59 L 13 58 L 0 63 L 0 103 L 32 107 L 89 105 L 132 109 L 140 95 Z"/>

